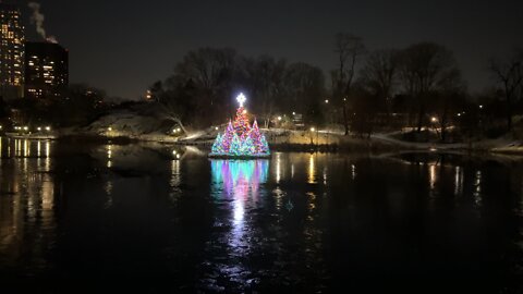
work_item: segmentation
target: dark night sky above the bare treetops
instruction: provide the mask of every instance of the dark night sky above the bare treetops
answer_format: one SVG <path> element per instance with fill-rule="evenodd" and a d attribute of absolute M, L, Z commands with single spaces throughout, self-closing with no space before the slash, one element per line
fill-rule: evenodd
<path fill-rule="evenodd" d="M 436 41 L 455 53 L 473 91 L 490 83 L 489 57 L 523 46 L 523 0 L 39 2 L 47 32 L 70 49 L 72 82 L 133 99 L 165 78 L 187 50 L 203 46 L 327 71 L 335 66 L 338 32 L 362 36 L 369 49 Z M 36 37 L 34 26 L 26 30 Z"/>

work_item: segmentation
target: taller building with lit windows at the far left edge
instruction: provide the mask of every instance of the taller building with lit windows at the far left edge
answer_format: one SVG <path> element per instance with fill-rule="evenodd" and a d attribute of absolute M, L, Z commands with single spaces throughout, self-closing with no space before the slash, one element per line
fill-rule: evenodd
<path fill-rule="evenodd" d="M 24 26 L 16 5 L 0 3 L 0 96 L 23 97 Z"/>

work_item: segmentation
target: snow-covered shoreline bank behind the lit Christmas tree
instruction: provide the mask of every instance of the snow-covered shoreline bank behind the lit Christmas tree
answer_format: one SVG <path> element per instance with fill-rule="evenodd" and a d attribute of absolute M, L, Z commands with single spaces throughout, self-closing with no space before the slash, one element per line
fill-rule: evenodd
<path fill-rule="evenodd" d="M 66 135 L 86 134 L 107 137 L 129 137 L 138 140 L 180 143 L 180 144 L 206 144 L 210 145 L 219 132 L 223 132 L 226 125 L 216 130 L 209 127 L 200 131 L 188 131 L 187 134 L 174 134 L 175 127 L 172 121 L 160 120 L 159 115 L 151 114 L 148 109 L 122 109 L 105 115 L 90 125 L 80 130 L 62 132 Z M 370 138 L 344 136 L 343 132 L 331 130 L 317 130 L 312 132 L 283 128 L 263 128 L 267 140 L 271 145 L 337 145 L 342 149 L 408 149 L 408 150 L 491 150 L 495 152 L 523 154 L 523 142 L 511 139 L 509 136 L 498 139 L 485 139 L 472 143 L 415 143 L 405 142 L 394 137 L 400 133 L 376 133 Z"/>

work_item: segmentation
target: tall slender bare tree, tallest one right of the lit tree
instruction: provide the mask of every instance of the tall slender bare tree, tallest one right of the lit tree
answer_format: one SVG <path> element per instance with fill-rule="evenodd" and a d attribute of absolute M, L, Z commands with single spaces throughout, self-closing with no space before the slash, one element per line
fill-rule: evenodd
<path fill-rule="evenodd" d="M 361 37 L 339 33 L 335 38 L 335 52 L 338 56 L 338 69 L 332 72 L 333 98 L 342 102 L 343 125 L 345 135 L 349 134 L 349 115 L 346 100 L 354 82 L 356 64 L 366 49 Z"/>

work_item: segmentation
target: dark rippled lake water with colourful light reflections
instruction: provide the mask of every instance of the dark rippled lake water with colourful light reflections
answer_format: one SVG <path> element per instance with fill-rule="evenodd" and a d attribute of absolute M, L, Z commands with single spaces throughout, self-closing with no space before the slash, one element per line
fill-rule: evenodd
<path fill-rule="evenodd" d="M 519 293 L 523 163 L 2 139 L 0 293 Z"/>

